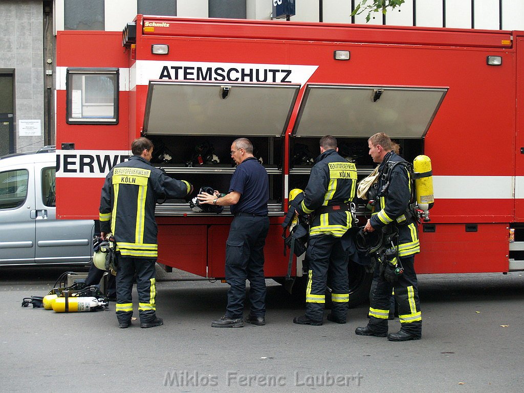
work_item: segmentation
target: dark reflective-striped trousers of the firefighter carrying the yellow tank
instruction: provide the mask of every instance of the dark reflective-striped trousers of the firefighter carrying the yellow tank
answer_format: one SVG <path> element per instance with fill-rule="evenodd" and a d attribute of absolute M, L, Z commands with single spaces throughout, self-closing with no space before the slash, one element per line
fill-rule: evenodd
<path fill-rule="evenodd" d="M 413 267 L 414 255 L 400 258 L 404 272 L 394 282 L 384 280 L 383 275 L 378 276 L 375 293 L 369 307 L 370 330 L 376 333 L 388 331 L 388 314 L 390 309 L 391 291 L 395 291 L 395 301 L 398 305 L 400 330 L 413 336 L 422 335 L 422 315 L 420 312 L 419 291 L 417 288 L 417 275 Z M 380 263 L 375 265 L 380 269 Z"/>

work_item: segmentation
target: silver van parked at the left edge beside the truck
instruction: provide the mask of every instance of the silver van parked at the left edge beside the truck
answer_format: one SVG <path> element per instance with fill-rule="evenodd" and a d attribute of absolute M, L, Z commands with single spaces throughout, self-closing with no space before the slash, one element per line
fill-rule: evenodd
<path fill-rule="evenodd" d="M 56 220 L 53 147 L 0 157 L 0 266 L 86 265 L 93 220 Z"/>

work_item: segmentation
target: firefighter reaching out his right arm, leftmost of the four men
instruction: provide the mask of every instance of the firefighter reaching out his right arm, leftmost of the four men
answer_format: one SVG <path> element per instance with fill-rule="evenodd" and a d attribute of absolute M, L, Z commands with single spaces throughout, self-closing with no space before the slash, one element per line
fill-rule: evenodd
<path fill-rule="evenodd" d="M 155 264 L 157 224 L 155 204 L 163 196 L 183 198 L 192 192 L 187 181 L 171 179 L 149 161 L 153 144 L 137 138 L 133 156 L 116 165 L 105 178 L 100 198 L 100 230 L 116 241 L 116 316 L 119 328 L 128 328 L 133 315 L 132 289 L 136 273 L 140 327 L 163 324 L 156 315 Z"/>

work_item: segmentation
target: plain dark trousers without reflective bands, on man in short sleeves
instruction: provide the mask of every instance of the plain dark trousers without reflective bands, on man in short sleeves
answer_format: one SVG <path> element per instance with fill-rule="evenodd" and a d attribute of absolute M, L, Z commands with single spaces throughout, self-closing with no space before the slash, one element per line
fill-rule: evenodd
<path fill-rule="evenodd" d="M 246 279 L 249 280 L 250 314 L 266 314 L 266 279 L 264 277 L 264 245 L 269 231 L 267 216 L 238 216 L 233 219 L 226 241 L 225 278 L 226 315 L 242 318 Z"/>

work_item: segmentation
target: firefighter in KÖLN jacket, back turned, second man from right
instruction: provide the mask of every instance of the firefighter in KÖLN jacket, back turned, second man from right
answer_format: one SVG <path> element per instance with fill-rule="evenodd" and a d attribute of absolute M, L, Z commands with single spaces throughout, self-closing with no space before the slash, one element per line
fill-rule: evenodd
<path fill-rule="evenodd" d="M 346 232 L 352 226 L 349 203 L 355 196 L 357 171 L 355 164 L 337 151 L 336 138 L 327 135 L 320 139 L 320 156 L 311 168 L 303 199 L 296 206 L 299 214 L 311 214 L 305 315 L 293 319 L 302 325 L 322 325 L 328 274 L 332 289 L 328 319 L 346 323 L 348 254 L 354 247 L 353 239 Z"/>

